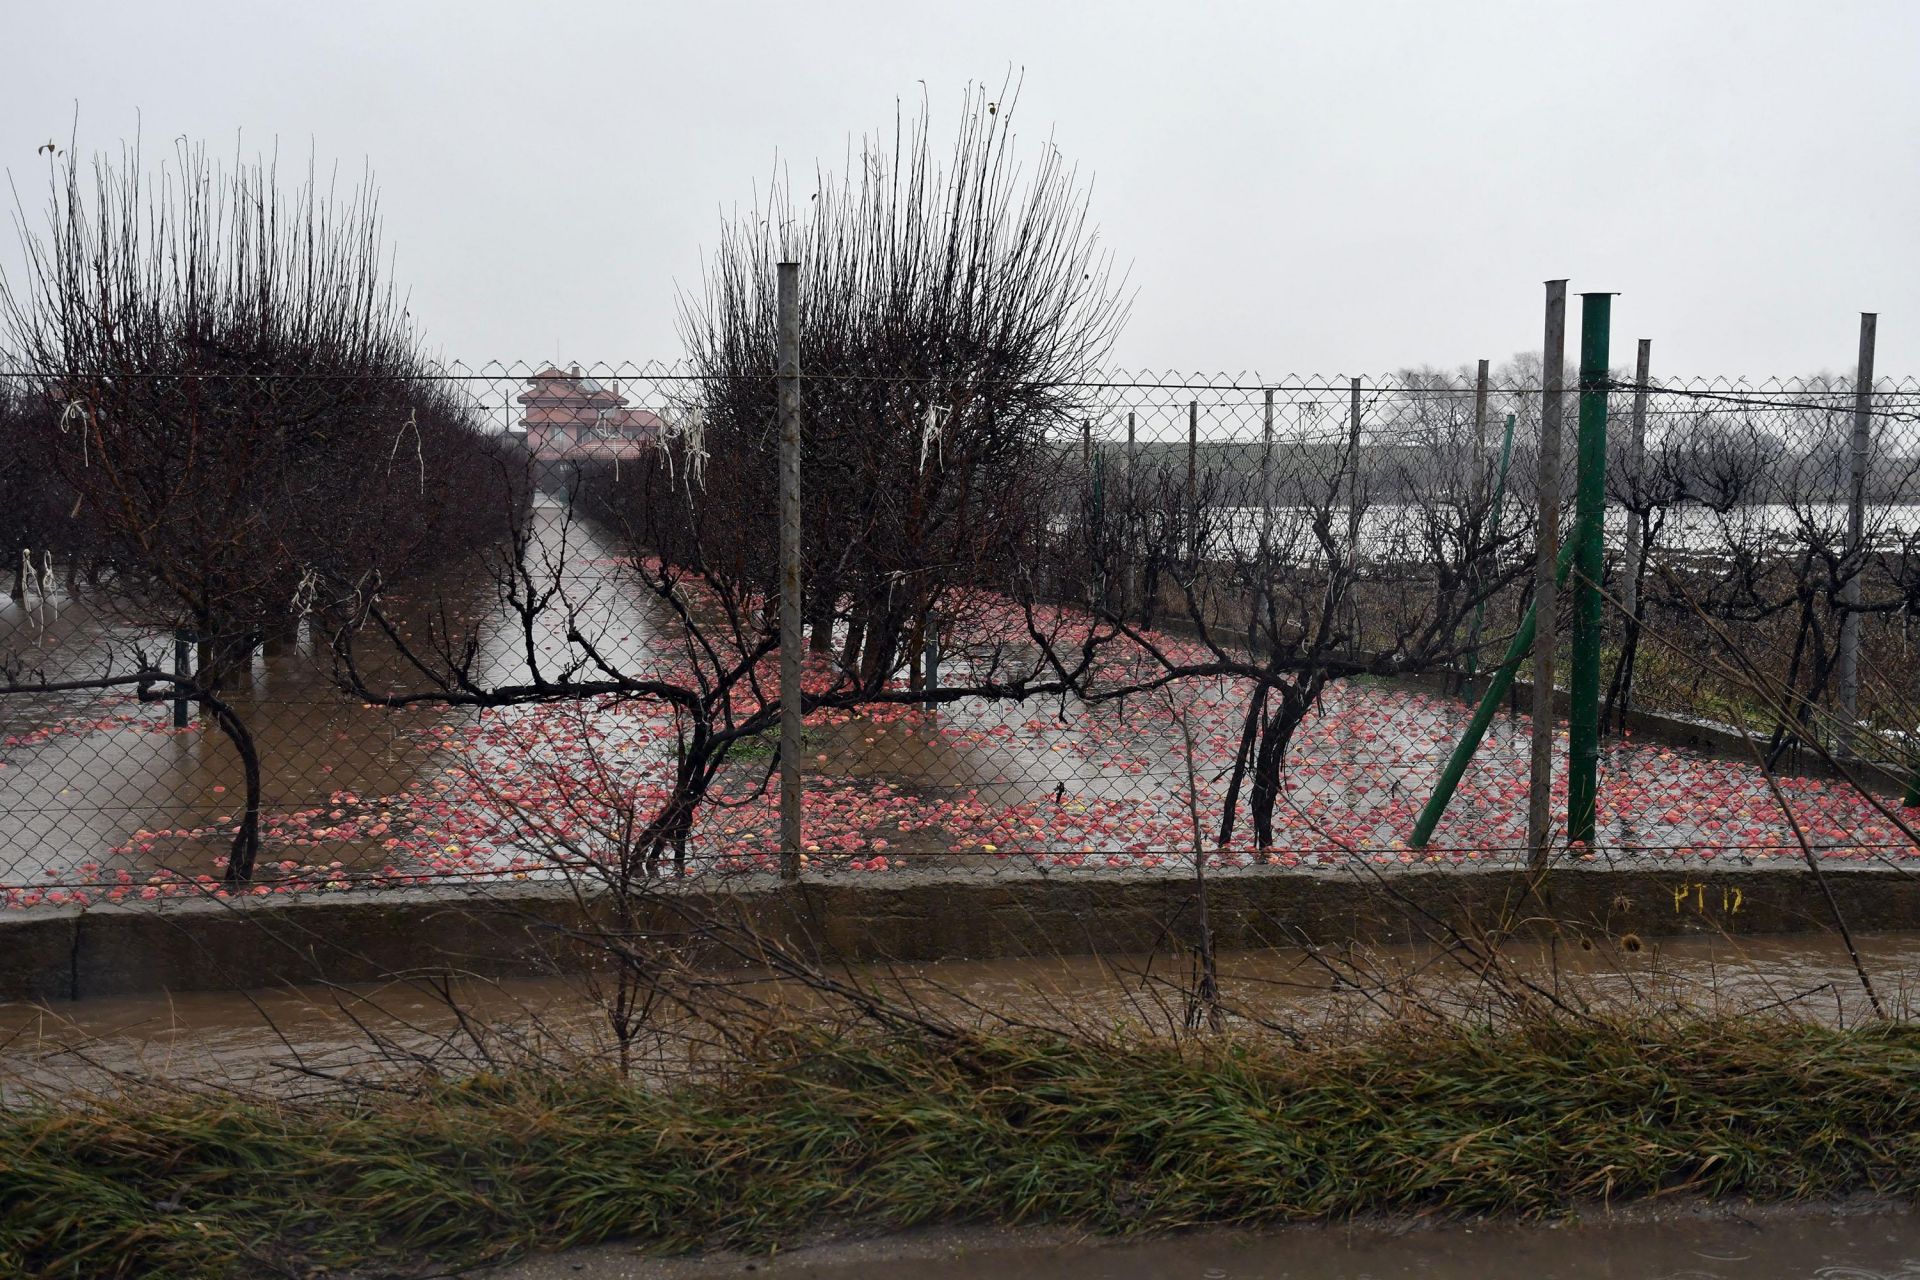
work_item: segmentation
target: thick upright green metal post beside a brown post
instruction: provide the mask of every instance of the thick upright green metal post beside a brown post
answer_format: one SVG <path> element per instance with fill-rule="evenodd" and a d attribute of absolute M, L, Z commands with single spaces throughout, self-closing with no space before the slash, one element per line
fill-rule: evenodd
<path fill-rule="evenodd" d="M 1599 641 L 1607 516 L 1607 328 L 1613 294 L 1580 294 L 1580 443 L 1574 480 L 1572 670 L 1567 674 L 1567 841 L 1594 846 L 1599 818 Z"/>

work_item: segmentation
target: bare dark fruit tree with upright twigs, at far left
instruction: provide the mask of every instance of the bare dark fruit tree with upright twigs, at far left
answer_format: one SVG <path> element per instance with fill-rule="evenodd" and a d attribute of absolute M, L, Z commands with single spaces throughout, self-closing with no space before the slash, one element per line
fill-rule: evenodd
<path fill-rule="evenodd" d="M 232 173 L 186 144 L 50 171 L 44 230 L 0 280 L 0 332 L 46 464 L 75 495 L 138 624 L 186 628 L 225 685 L 294 616 L 313 570 L 397 576 L 497 524 L 449 495 L 497 451 L 426 372 L 386 278 L 371 188 Z M 493 503 L 505 509 L 505 503 Z"/>

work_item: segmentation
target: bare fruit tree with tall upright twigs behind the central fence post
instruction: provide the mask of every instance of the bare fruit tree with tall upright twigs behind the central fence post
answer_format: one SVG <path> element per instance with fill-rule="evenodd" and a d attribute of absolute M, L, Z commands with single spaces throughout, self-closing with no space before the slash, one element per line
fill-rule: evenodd
<path fill-rule="evenodd" d="M 973 90 L 947 155 L 922 107 L 868 138 L 856 173 L 778 180 L 682 315 L 705 482 L 772 510 L 774 267 L 801 263 L 806 618 L 868 685 L 993 576 L 995 532 L 1052 501 L 1050 438 L 1125 320 L 1087 188 L 1052 146 L 1023 169 L 1012 117 L 1010 94 Z M 753 526 L 768 583 L 774 535 Z"/>

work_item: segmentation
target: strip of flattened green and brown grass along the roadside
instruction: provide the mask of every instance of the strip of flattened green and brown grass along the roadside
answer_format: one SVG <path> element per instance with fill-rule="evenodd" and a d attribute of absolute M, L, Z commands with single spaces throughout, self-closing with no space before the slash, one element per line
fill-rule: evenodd
<path fill-rule="evenodd" d="M 789 1034 L 705 1088 L 484 1077 L 0 1113 L 0 1272 L 305 1274 L 831 1222 L 1102 1232 L 1920 1186 L 1920 1029 L 1425 1027 L 1346 1048 Z"/>

